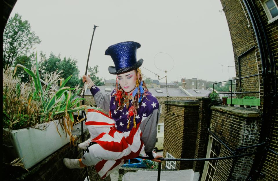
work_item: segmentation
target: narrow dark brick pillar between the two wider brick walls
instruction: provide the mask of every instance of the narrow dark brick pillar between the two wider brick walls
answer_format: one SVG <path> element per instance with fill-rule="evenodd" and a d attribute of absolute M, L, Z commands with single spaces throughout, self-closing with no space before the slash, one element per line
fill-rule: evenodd
<path fill-rule="evenodd" d="M 199 120 L 197 128 L 197 141 L 194 158 L 206 158 L 206 150 L 208 146 L 208 128 L 210 123 L 210 98 L 199 99 Z M 193 162 L 193 171 L 200 172 L 202 175 L 204 162 Z"/>

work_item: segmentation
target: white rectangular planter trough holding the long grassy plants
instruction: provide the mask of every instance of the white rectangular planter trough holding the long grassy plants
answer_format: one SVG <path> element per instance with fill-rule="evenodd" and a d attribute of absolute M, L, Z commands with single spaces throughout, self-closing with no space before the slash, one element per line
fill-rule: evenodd
<path fill-rule="evenodd" d="M 58 125 L 61 137 L 55 124 Z M 20 130 L 3 128 L 3 144 L 6 145 L 3 145 L 3 148 L 8 157 L 7 161 L 23 158 L 21 162 L 26 169 L 29 169 L 69 143 L 69 135 L 66 137 L 58 120 L 36 125 L 36 128 Z M 43 128 L 45 129 L 41 130 Z"/>

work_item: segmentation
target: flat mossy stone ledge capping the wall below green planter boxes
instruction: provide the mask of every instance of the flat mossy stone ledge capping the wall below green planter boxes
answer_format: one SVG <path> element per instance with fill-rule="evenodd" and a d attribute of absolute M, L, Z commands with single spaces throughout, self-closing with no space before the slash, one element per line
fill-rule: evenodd
<path fill-rule="evenodd" d="M 235 114 L 237 116 L 242 117 L 258 117 L 261 112 L 256 109 L 252 108 L 239 108 L 239 107 L 233 107 L 233 106 L 212 106 L 212 110 L 218 110 L 221 112 L 227 112 L 230 114 Z"/>

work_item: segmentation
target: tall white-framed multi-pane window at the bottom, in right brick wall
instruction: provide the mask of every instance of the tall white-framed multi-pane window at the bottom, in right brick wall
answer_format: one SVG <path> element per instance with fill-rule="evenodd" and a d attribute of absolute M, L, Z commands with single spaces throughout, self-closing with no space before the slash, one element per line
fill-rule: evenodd
<path fill-rule="evenodd" d="M 206 158 L 217 158 L 220 154 L 221 144 L 212 136 L 209 136 L 209 147 Z M 205 181 L 213 180 L 218 160 L 205 162 L 203 178 Z"/>

